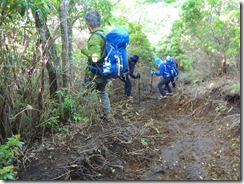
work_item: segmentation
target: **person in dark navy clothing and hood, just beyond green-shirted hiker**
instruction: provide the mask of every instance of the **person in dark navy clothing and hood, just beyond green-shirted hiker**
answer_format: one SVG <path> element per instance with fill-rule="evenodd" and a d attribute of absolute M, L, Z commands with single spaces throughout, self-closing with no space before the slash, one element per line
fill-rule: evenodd
<path fill-rule="evenodd" d="M 140 74 L 134 75 L 135 65 L 139 61 L 139 56 L 133 55 L 132 57 L 129 57 L 128 59 L 128 69 L 124 73 L 123 76 L 119 77 L 121 81 L 124 82 L 124 93 L 127 97 L 127 99 L 132 99 L 131 91 L 132 91 L 132 85 L 129 77 L 132 77 L 133 79 L 140 79 Z"/>

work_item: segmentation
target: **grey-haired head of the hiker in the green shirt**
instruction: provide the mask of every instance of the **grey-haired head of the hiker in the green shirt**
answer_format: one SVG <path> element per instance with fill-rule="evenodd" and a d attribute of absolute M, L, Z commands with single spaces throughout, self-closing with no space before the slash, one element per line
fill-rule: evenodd
<path fill-rule="evenodd" d="M 85 21 L 89 29 L 95 29 L 101 25 L 101 15 L 95 10 L 90 10 L 86 13 Z"/>

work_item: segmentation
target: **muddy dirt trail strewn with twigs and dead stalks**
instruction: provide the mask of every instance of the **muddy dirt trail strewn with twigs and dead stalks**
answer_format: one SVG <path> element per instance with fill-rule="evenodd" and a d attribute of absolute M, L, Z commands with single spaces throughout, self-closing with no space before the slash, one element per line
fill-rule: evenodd
<path fill-rule="evenodd" d="M 138 83 L 129 101 L 113 85 L 116 123 L 74 123 L 34 144 L 18 180 L 240 180 L 240 96 L 223 105 L 221 88 L 197 95 L 179 85 L 158 100 L 142 84 L 139 103 Z"/>

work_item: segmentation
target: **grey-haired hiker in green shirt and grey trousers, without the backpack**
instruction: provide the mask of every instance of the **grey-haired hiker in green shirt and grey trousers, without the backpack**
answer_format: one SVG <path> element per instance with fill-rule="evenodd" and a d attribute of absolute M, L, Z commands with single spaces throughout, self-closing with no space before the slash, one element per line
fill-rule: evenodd
<path fill-rule="evenodd" d="M 104 54 L 103 52 L 105 52 L 105 41 L 100 35 L 92 34 L 98 30 L 103 31 L 100 28 L 101 16 L 97 11 L 91 10 L 86 13 L 85 21 L 91 36 L 86 44 L 86 47 L 83 39 L 77 39 L 76 45 L 81 50 L 81 53 L 87 56 L 88 65 L 101 65 Z M 95 82 L 94 89 L 98 90 L 98 95 L 104 109 L 105 118 L 108 121 L 114 121 L 111 113 L 110 99 L 106 91 L 108 79 L 104 79 L 100 74 L 93 74 L 92 72 L 89 72 L 87 66 L 82 87 L 87 87 L 91 82 Z"/>

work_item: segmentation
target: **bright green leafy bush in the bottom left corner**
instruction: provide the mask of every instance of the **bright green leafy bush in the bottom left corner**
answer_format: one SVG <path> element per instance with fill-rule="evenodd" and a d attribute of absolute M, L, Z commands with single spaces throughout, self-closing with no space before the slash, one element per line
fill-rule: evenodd
<path fill-rule="evenodd" d="M 19 155 L 19 150 L 23 146 L 24 142 L 19 141 L 20 135 L 16 134 L 8 141 L 0 145 L 0 180 L 14 180 L 17 172 L 14 171 L 12 165 Z"/>

